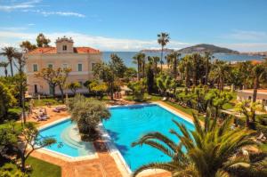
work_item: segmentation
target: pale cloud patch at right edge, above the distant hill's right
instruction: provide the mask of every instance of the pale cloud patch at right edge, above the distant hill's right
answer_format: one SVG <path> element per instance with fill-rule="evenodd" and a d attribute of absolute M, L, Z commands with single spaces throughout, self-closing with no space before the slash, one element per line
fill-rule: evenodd
<path fill-rule="evenodd" d="M 234 30 L 231 34 L 226 35 L 227 38 L 238 39 L 238 40 L 266 40 L 267 33 L 263 31 L 245 31 L 245 30 Z"/>

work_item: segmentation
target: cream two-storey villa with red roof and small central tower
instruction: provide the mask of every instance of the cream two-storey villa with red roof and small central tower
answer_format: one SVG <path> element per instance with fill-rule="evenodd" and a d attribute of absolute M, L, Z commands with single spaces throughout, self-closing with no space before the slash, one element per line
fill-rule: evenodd
<path fill-rule="evenodd" d="M 65 36 L 58 38 L 55 44 L 56 47 L 38 47 L 26 54 L 28 94 L 52 94 L 49 84 L 35 76 L 43 68 L 71 68 L 67 83 L 79 82 L 82 88 L 77 93 L 88 92 L 84 83 L 93 78 L 93 65 L 101 61 L 101 52 L 91 47 L 74 47 L 73 40 Z M 59 88 L 55 93 L 60 94 Z"/>

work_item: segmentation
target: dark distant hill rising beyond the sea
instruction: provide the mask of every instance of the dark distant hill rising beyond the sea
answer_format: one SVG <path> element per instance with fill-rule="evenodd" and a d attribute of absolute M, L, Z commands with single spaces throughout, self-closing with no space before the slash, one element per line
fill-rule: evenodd
<path fill-rule="evenodd" d="M 239 53 L 228 48 L 216 46 L 214 44 L 196 44 L 190 47 L 180 49 L 178 52 L 192 53 L 192 52 L 212 52 L 212 53 Z"/>

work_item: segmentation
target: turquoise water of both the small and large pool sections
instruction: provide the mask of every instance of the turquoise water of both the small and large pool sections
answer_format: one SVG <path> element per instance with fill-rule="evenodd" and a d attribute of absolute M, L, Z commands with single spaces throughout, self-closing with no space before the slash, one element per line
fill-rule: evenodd
<path fill-rule="evenodd" d="M 133 148 L 131 144 L 141 138 L 142 135 L 158 131 L 173 141 L 179 141 L 177 137 L 169 133 L 170 129 L 174 129 L 179 133 L 172 119 L 186 125 L 189 130 L 194 130 L 194 126 L 182 119 L 182 117 L 178 117 L 155 104 L 113 107 L 109 110 L 111 117 L 109 120 L 103 121 L 103 125 L 132 171 L 150 162 L 170 160 L 158 149 L 153 149 L 147 145 Z M 70 119 L 67 119 L 42 129 L 40 131 L 41 137 L 54 138 L 62 145 L 59 148 L 57 143 L 51 147 L 46 147 L 46 149 L 69 157 L 93 154 L 92 143 L 77 140 L 79 136 L 77 132 L 73 131 L 74 127 L 75 124 L 71 123 Z"/>

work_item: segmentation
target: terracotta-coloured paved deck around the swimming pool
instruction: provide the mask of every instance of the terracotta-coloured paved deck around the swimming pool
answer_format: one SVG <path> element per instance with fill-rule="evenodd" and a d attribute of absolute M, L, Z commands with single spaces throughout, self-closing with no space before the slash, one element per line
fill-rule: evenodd
<path fill-rule="evenodd" d="M 164 101 L 155 101 L 166 109 L 172 110 L 178 115 L 182 115 L 190 122 L 192 117 L 179 109 L 166 104 Z M 59 121 L 63 117 L 69 117 L 67 111 L 62 111 L 61 113 L 54 113 L 53 108 L 45 108 L 47 114 L 50 116 L 50 119 L 47 121 L 37 122 L 37 126 L 41 127 L 44 125 L 50 125 L 53 122 Z M 28 121 L 36 122 L 36 119 L 31 117 L 28 118 Z M 114 157 L 109 153 L 109 150 L 103 141 L 93 142 L 93 146 L 96 150 L 97 157 L 93 159 L 81 159 L 78 161 L 69 161 L 63 157 L 57 157 L 53 154 L 47 153 L 42 150 L 37 150 L 32 153 L 32 157 L 42 159 L 46 162 L 52 163 L 54 165 L 61 166 L 61 176 L 62 177 L 127 177 L 130 176 L 128 173 L 125 173 L 125 170 L 117 165 Z M 104 147 L 104 148 L 103 148 Z M 158 173 L 154 170 L 151 170 L 150 173 L 141 173 L 138 177 L 170 177 L 171 173 L 162 172 Z"/>

